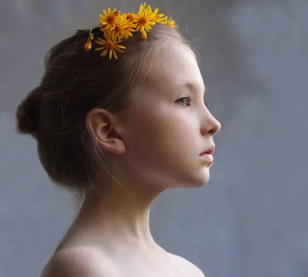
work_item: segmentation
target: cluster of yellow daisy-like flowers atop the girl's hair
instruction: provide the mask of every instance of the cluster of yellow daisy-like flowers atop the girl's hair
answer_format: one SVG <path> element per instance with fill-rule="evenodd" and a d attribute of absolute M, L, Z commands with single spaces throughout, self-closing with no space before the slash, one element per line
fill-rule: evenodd
<path fill-rule="evenodd" d="M 132 36 L 131 32 L 137 32 L 140 30 L 142 39 L 147 38 L 146 31 L 151 30 L 151 25 L 154 26 L 156 23 L 164 24 L 172 29 L 177 28 L 175 25 L 175 21 L 171 20 L 171 17 L 168 19 L 167 16 L 163 17 L 164 14 L 157 14 L 158 9 L 152 12 L 150 5 L 145 8 L 145 3 L 140 5 L 140 9 L 138 14 L 134 14 L 133 12 L 123 13 L 117 9 L 114 9 L 111 12 L 110 7 L 108 8 L 108 12 L 103 10 L 104 14 L 100 14 L 100 31 L 104 34 L 104 38 L 102 39 L 98 37 L 98 43 L 103 45 L 103 47 L 95 48 L 95 51 L 103 50 L 100 56 L 105 57 L 109 51 L 109 58 L 111 59 L 112 54 L 117 59 L 117 50 L 120 53 L 124 53 L 122 49 L 125 49 L 124 46 L 119 45 L 123 39 L 127 39 L 129 36 Z M 90 29 L 89 37 L 85 42 L 84 48 L 85 51 L 89 51 L 91 49 L 91 41 L 94 38 L 92 34 L 92 27 Z M 122 48 L 122 49 L 121 49 Z"/>

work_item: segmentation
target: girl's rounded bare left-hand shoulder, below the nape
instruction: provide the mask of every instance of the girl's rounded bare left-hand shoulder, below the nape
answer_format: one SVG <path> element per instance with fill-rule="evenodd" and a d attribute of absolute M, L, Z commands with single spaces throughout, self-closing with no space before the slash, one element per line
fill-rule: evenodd
<path fill-rule="evenodd" d="M 112 277 L 115 267 L 95 248 L 74 247 L 54 253 L 40 277 Z"/>

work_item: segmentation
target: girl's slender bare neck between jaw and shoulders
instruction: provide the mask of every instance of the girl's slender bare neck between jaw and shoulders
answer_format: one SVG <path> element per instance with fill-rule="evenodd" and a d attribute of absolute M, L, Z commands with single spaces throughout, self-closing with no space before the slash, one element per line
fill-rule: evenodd
<path fill-rule="evenodd" d="M 158 192 L 129 190 L 117 184 L 91 189 L 75 224 L 87 230 L 98 242 L 156 248 L 149 228 L 150 206 Z"/>

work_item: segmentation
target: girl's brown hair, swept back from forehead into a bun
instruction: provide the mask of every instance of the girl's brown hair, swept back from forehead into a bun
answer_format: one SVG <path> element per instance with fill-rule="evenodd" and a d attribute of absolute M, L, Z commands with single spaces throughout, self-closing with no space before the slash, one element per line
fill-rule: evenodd
<path fill-rule="evenodd" d="M 144 40 L 138 32 L 125 39 L 121 43 L 125 53 L 118 60 L 86 52 L 89 30 L 76 31 L 47 52 L 40 86 L 17 107 L 17 131 L 36 139 L 40 162 L 51 181 L 75 192 L 74 197 L 84 196 L 102 166 L 102 152 L 90 147 L 87 114 L 94 108 L 115 114 L 131 107 L 133 92 L 167 42 L 192 49 L 178 30 L 163 24 L 151 28 Z M 92 33 L 102 34 L 100 27 Z"/>

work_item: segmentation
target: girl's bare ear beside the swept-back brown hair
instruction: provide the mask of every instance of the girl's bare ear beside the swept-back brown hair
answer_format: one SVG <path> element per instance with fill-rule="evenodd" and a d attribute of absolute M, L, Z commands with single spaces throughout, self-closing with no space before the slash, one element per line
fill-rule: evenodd
<path fill-rule="evenodd" d="M 100 147 L 116 154 L 125 152 L 126 146 L 119 134 L 121 126 L 115 114 L 105 109 L 93 109 L 86 117 L 86 127 Z"/>

